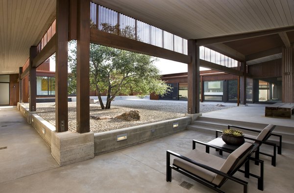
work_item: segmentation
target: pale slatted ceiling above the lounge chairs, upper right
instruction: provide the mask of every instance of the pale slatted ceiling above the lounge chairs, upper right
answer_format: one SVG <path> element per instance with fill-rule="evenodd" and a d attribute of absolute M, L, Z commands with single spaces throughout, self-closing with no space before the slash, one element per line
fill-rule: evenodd
<path fill-rule="evenodd" d="M 93 0 L 186 39 L 294 25 L 294 0 Z"/>

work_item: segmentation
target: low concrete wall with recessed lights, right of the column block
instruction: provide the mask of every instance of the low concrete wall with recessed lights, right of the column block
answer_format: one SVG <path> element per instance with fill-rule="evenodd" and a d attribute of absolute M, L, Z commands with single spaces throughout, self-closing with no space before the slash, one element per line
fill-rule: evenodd
<path fill-rule="evenodd" d="M 178 126 L 173 127 L 173 124 L 178 124 Z M 191 124 L 191 118 L 182 117 L 173 120 L 95 133 L 95 155 L 115 151 L 183 131 L 189 124 Z M 126 134 L 126 140 L 117 142 L 117 137 L 123 136 L 124 134 Z"/>

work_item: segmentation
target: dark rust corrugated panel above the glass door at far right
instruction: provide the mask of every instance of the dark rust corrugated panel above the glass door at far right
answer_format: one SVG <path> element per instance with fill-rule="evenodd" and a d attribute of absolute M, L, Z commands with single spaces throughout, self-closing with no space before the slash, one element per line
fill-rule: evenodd
<path fill-rule="evenodd" d="M 248 75 L 252 78 L 281 77 L 282 59 L 249 65 Z"/>

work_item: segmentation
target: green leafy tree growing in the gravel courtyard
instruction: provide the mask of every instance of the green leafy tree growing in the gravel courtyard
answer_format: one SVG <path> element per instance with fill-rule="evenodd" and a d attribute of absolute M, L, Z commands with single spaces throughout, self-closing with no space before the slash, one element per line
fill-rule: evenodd
<path fill-rule="evenodd" d="M 151 56 L 126 50 L 90 45 L 91 85 L 98 93 L 102 109 L 109 109 L 111 101 L 119 94 L 131 92 L 164 95 L 170 87 L 160 80 L 159 70 Z M 101 94 L 106 91 L 106 105 Z"/>

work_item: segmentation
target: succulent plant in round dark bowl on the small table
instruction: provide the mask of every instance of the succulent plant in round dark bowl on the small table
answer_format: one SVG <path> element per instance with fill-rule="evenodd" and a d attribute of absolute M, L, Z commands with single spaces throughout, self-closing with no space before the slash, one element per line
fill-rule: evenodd
<path fill-rule="evenodd" d="M 227 145 L 242 145 L 245 142 L 244 134 L 240 130 L 225 129 L 221 138 Z"/>

